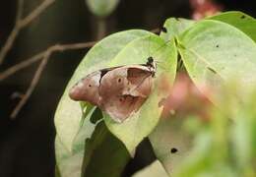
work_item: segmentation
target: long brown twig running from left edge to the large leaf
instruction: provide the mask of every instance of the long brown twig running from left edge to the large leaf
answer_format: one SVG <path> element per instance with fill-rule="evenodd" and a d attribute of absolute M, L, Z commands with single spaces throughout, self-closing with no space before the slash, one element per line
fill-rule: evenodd
<path fill-rule="evenodd" d="M 31 58 L 24 60 L 12 67 L 10 67 L 9 69 L 7 69 L 6 71 L 4 71 L 3 73 L 0 74 L 0 82 L 7 79 L 8 77 L 10 77 L 11 75 L 15 74 L 16 72 L 32 65 L 34 62 L 39 61 L 43 58 L 43 56 L 45 55 L 45 53 L 50 53 L 50 55 L 52 54 L 52 52 L 55 51 L 64 51 L 64 50 L 74 50 L 74 49 L 82 49 L 82 48 L 88 48 L 88 47 L 92 47 L 93 45 L 96 44 L 96 41 L 90 41 L 90 42 L 82 42 L 82 43 L 71 43 L 71 44 L 56 44 L 56 45 L 52 45 L 50 47 L 48 47 L 46 50 L 37 53 L 36 55 L 33 55 Z"/>

